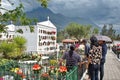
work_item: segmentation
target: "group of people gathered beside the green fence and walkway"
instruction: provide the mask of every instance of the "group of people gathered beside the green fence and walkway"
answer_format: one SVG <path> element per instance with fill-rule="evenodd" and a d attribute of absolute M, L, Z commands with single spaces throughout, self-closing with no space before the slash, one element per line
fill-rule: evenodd
<path fill-rule="evenodd" d="M 81 67 L 86 64 L 85 67 L 89 75 L 88 80 L 99 80 L 99 78 L 103 80 L 104 63 L 107 54 L 105 41 L 99 41 L 95 36 L 92 36 L 90 45 L 87 44 L 87 40 L 83 39 L 80 43 L 71 44 L 69 48 L 60 59 L 60 63 L 66 60 L 68 71 L 74 66 Z"/>

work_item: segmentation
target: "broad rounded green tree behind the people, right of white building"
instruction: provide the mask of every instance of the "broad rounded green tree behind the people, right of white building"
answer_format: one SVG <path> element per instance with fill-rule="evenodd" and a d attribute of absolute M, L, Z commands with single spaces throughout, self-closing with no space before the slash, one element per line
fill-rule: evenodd
<path fill-rule="evenodd" d="M 70 37 L 75 37 L 79 41 L 81 38 L 88 38 L 92 34 L 91 29 L 90 25 L 80 25 L 77 23 L 70 23 L 65 28 Z"/>

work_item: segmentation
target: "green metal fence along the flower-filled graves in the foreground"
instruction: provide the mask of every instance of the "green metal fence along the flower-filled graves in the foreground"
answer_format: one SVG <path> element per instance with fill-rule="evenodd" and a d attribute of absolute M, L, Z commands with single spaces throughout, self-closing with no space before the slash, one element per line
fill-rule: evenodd
<path fill-rule="evenodd" d="M 6 63 L 5 65 L 0 66 L 0 80 L 43 80 L 41 78 L 41 75 L 34 74 L 32 70 L 32 66 L 34 64 L 18 64 L 14 62 Z M 15 69 L 23 70 L 23 74 L 21 73 L 15 73 Z M 12 71 L 14 69 L 14 72 Z M 49 80 L 80 80 L 84 73 L 84 65 L 83 67 L 74 67 L 71 71 L 69 71 L 65 76 L 57 76 L 53 75 L 52 78 Z M 44 72 L 44 71 L 42 71 Z M 51 76 L 50 76 L 51 77 Z M 48 79 L 46 79 L 48 80 Z"/>

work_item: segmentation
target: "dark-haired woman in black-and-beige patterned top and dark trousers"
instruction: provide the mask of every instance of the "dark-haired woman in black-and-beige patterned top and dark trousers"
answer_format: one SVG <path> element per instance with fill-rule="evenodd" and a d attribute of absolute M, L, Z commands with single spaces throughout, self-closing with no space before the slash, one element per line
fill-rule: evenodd
<path fill-rule="evenodd" d="M 100 68 L 100 60 L 102 58 L 102 47 L 99 45 L 98 40 L 96 37 L 92 36 L 91 39 L 91 50 L 89 52 L 88 62 L 91 65 L 90 71 L 90 78 L 91 80 L 99 80 L 98 79 L 98 72 Z"/>

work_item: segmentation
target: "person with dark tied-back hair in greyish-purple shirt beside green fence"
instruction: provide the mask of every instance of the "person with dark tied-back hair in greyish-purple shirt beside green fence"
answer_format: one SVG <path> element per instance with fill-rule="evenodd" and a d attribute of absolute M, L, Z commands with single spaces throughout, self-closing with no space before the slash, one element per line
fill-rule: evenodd
<path fill-rule="evenodd" d="M 75 45 L 70 46 L 70 50 L 65 52 L 62 58 L 60 59 L 60 63 L 63 62 L 63 60 L 66 60 L 66 67 L 67 70 L 70 71 L 74 66 L 78 66 L 81 62 L 81 58 L 75 50 Z"/>

